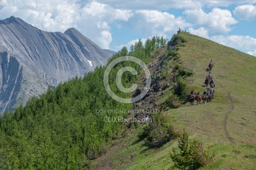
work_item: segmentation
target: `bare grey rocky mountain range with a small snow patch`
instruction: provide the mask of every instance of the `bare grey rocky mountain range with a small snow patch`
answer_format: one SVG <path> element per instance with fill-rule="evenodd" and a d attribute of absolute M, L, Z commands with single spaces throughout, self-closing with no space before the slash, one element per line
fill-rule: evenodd
<path fill-rule="evenodd" d="M 0 20 L 0 113 L 25 104 L 48 86 L 83 77 L 115 52 L 102 49 L 75 28 L 42 31 L 20 18 Z"/>

